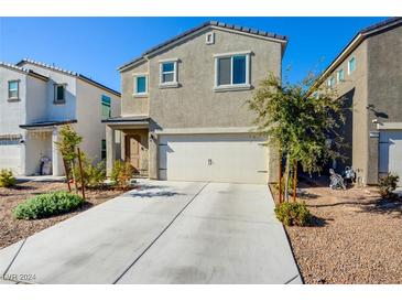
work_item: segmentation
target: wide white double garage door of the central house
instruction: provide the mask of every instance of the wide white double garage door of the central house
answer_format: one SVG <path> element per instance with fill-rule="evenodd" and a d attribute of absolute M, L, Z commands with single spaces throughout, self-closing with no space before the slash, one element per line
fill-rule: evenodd
<path fill-rule="evenodd" d="M 268 148 L 251 134 L 161 136 L 160 179 L 267 183 Z"/>

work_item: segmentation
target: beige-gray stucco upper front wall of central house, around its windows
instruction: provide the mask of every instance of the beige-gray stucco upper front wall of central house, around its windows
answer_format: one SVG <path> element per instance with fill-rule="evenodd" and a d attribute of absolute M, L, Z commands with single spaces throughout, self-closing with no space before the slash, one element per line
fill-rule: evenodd
<path fill-rule="evenodd" d="M 245 106 L 252 96 L 252 89 L 214 91 L 216 54 L 251 51 L 250 80 L 253 87 L 269 72 L 281 75 L 280 43 L 214 30 L 215 44 L 207 45 L 206 32 L 150 58 L 150 117 L 157 123 L 156 127 L 252 126 L 253 114 Z M 160 61 L 169 58 L 178 58 L 180 87 L 161 89 Z"/>

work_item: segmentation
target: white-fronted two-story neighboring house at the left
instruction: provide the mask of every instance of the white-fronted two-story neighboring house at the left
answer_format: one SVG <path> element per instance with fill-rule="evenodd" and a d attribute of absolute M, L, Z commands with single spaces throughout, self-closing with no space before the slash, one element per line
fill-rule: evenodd
<path fill-rule="evenodd" d="M 93 160 L 106 157 L 101 120 L 120 112 L 120 94 L 84 75 L 23 60 L 0 63 L 0 169 L 19 175 L 41 173 L 41 159 L 52 161 L 52 174 L 64 166 L 54 142 L 62 125 L 84 137 Z"/>

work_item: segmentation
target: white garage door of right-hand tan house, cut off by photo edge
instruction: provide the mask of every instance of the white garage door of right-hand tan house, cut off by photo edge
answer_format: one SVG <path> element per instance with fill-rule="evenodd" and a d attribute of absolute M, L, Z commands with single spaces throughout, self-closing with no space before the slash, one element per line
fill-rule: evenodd
<path fill-rule="evenodd" d="M 380 176 L 388 172 L 400 176 L 402 185 L 402 131 L 380 132 Z"/>

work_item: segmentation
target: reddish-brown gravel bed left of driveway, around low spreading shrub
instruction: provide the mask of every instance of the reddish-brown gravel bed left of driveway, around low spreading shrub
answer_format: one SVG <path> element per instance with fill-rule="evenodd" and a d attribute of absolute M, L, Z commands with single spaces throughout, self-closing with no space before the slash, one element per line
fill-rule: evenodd
<path fill-rule="evenodd" d="M 18 220 L 12 217 L 12 209 L 19 203 L 61 190 L 67 190 L 67 185 L 59 182 L 24 182 L 10 188 L 0 187 L 0 249 L 123 193 L 120 190 L 86 190 L 87 203 L 72 213 L 37 220 Z"/>

